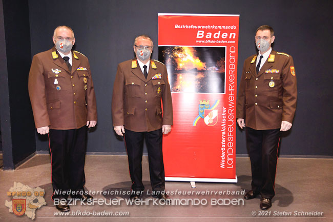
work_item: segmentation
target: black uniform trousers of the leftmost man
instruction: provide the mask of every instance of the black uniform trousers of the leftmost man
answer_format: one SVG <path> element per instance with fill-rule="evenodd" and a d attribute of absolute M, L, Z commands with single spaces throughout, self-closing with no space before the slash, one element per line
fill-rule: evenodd
<path fill-rule="evenodd" d="M 84 189 L 86 143 L 86 126 L 71 130 L 50 129 L 52 199 L 67 199 L 68 194 L 59 194 L 59 191 Z"/>

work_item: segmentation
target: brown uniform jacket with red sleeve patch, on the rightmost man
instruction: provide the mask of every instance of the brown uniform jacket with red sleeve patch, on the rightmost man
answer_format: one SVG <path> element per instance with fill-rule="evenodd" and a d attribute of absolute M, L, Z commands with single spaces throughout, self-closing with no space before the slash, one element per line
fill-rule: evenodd
<path fill-rule="evenodd" d="M 236 118 L 256 130 L 278 129 L 283 120 L 293 123 L 297 100 L 293 57 L 272 50 L 259 73 L 256 57 L 244 62 Z"/>

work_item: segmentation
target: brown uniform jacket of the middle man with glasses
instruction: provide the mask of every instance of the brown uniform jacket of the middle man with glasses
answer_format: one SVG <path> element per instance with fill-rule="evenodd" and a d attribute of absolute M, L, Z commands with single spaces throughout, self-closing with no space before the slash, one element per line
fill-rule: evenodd
<path fill-rule="evenodd" d="M 113 126 L 124 125 L 135 132 L 150 132 L 173 124 L 171 91 L 164 64 L 151 60 L 147 79 L 136 59 L 118 65 L 112 120 Z"/>

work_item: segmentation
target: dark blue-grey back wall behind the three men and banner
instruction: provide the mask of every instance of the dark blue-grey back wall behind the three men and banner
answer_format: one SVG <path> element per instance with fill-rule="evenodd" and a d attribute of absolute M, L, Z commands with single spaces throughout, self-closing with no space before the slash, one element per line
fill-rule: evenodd
<path fill-rule="evenodd" d="M 135 36 L 150 35 L 155 43 L 153 58 L 158 59 L 157 13 L 200 13 L 240 15 L 238 83 L 244 59 L 257 52 L 256 28 L 268 24 L 275 29 L 274 49 L 294 57 L 299 95 L 293 128 L 283 134 L 280 154 L 333 156 L 332 1 L 30 0 L 28 3 L 29 17 L 23 20 L 30 19 L 30 39 L 22 37 L 19 41 L 31 44 L 31 56 L 52 47 L 56 26 L 68 25 L 75 33 L 75 50 L 90 60 L 98 125 L 89 133 L 88 152 L 126 152 L 123 141 L 113 131 L 111 96 L 117 64 L 134 56 Z M 30 55 L 24 62 L 30 63 L 29 58 Z M 25 127 L 34 128 L 33 124 Z M 244 134 L 237 130 L 237 154 L 247 154 Z M 37 135 L 36 150 L 48 150 L 47 137 Z"/>

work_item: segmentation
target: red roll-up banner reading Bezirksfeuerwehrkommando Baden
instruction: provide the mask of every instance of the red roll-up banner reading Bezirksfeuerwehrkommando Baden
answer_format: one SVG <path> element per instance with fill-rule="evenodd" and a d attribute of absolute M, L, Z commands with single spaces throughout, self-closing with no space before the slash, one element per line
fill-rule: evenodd
<path fill-rule="evenodd" d="M 239 15 L 158 14 L 174 125 L 163 137 L 165 180 L 237 182 Z"/>

